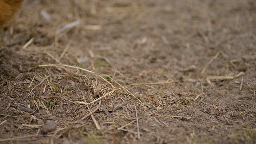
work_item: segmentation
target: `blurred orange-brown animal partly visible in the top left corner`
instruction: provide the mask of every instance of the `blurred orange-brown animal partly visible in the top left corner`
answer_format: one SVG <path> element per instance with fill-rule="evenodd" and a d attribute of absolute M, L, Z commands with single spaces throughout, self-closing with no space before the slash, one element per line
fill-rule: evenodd
<path fill-rule="evenodd" d="M 0 0 L 0 28 L 15 20 L 22 2 L 23 0 Z"/>

